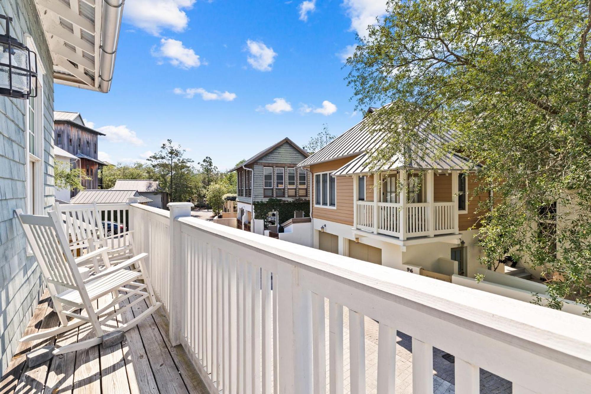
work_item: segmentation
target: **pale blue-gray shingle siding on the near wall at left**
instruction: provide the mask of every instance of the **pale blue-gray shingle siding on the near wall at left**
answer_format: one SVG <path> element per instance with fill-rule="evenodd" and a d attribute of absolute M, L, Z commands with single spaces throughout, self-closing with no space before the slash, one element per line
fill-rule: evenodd
<path fill-rule="evenodd" d="M 43 79 L 43 205 L 54 203 L 53 66 L 33 0 L 0 0 L 0 13 L 14 18 L 11 35 L 33 37 L 46 70 Z M 0 28 L 4 33 L 4 25 Z M 27 102 L 0 96 L 0 369 L 5 370 L 17 341 L 31 318 L 41 291 L 41 270 L 27 257 L 25 236 L 14 209 L 25 210 L 27 166 L 25 108 Z"/>

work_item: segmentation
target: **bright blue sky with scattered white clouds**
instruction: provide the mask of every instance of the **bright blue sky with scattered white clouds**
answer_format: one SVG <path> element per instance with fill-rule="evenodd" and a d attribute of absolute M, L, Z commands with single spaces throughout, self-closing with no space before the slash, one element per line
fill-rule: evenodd
<path fill-rule="evenodd" d="M 55 108 L 108 134 L 100 157 L 145 159 L 167 138 L 220 169 L 326 123 L 361 120 L 343 79 L 385 0 L 127 0 L 111 92 L 56 86 Z"/>

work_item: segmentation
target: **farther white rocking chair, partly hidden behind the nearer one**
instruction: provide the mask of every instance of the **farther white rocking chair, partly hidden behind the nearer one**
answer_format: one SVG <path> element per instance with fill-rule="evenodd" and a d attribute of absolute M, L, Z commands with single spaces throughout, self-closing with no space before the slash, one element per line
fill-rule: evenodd
<path fill-rule="evenodd" d="M 105 226 L 96 202 L 90 204 L 59 204 L 56 202 L 54 208 L 60 214 L 59 217 L 63 219 L 64 230 L 70 239 L 71 250 L 83 254 L 85 251 L 107 247 L 109 248 L 107 255 L 111 264 L 135 256 L 133 231 L 105 235 Z M 95 258 L 92 263 L 95 271 L 98 272 L 100 270 L 98 260 Z M 105 268 L 109 267 L 104 266 L 103 269 Z"/>

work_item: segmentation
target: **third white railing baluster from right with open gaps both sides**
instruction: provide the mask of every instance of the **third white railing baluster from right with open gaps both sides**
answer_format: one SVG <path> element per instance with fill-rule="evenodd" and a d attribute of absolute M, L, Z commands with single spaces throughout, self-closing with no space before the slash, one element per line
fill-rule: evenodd
<path fill-rule="evenodd" d="M 378 394 L 393 393 L 396 386 L 396 330 L 380 323 L 378 338 Z"/>

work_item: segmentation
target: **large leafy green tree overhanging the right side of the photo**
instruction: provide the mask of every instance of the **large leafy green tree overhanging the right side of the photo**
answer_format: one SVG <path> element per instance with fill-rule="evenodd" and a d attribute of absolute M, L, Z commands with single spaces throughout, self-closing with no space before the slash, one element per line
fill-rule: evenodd
<path fill-rule="evenodd" d="M 482 262 L 511 251 L 560 272 L 555 308 L 591 300 L 590 30 L 589 1 L 389 1 L 347 61 L 357 108 L 385 105 L 366 115 L 388 135 L 374 163 L 453 134 L 439 154 L 482 164 L 494 196 Z"/>

